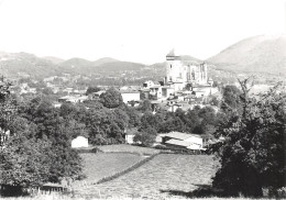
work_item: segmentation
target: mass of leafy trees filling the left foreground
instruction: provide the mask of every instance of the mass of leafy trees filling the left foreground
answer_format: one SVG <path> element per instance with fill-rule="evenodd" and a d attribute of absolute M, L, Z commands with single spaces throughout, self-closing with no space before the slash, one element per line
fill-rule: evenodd
<path fill-rule="evenodd" d="M 0 109 L 0 184 L 21 188 L 82 178 L 81 159 L 70 148 L 77 125 L 48 101 L 21 101 L 1 82 Z"/>

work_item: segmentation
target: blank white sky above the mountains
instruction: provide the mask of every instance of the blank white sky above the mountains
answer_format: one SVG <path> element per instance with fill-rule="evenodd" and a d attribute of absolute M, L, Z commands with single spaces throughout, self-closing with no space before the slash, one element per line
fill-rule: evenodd
<path fill-rule="evenodd" d="M 153 64 L 285 34 L 286 0 L 0 0 L 0 51 Z"/>

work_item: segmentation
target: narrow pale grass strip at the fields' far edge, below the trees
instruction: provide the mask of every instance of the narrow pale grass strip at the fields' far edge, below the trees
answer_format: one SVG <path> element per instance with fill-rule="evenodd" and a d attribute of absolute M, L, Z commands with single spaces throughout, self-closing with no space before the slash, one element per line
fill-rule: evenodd
<path fill-rule="evenodd" d="M 105 146 L 97 146 L 97 147 L 105 153 L 128 152 L 128 153 L 134 153 L 134 154 L 141 154 L 141 155 L 152 155 L 152 154 L 156 154 L 160 152 L 158 149 L 155 149 L 155 148 L 132 146 L 132 145 L 128 145 L 128 144 L 105 145 Z"/>

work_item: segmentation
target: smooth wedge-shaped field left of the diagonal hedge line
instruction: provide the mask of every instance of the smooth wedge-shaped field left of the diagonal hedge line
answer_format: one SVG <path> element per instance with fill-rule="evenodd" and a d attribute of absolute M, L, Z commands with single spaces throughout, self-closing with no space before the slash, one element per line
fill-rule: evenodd
<path fill-rule="evenodd" d="M 80 181 L 76 181 L 74 184 L 75 187 L 80 187 L 84 184 L 98 181 L 99 179 L 121 171 L 142 159 L 142 156 L 129 153 L 86 153 L 80 154 L 80 156 L 84 158 L 85 162 L 84 173 L 87 178 Z"/>

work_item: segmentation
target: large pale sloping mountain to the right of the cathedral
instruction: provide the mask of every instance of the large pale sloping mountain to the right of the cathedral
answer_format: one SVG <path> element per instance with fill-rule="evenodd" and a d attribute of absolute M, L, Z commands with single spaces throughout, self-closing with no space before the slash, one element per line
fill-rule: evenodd
<path fill-rule="evenodd" d="M 230 45 L 207 62 L 220 69 L 283 75 L 286 73 L 286 36 L 248 37 Z"/>

